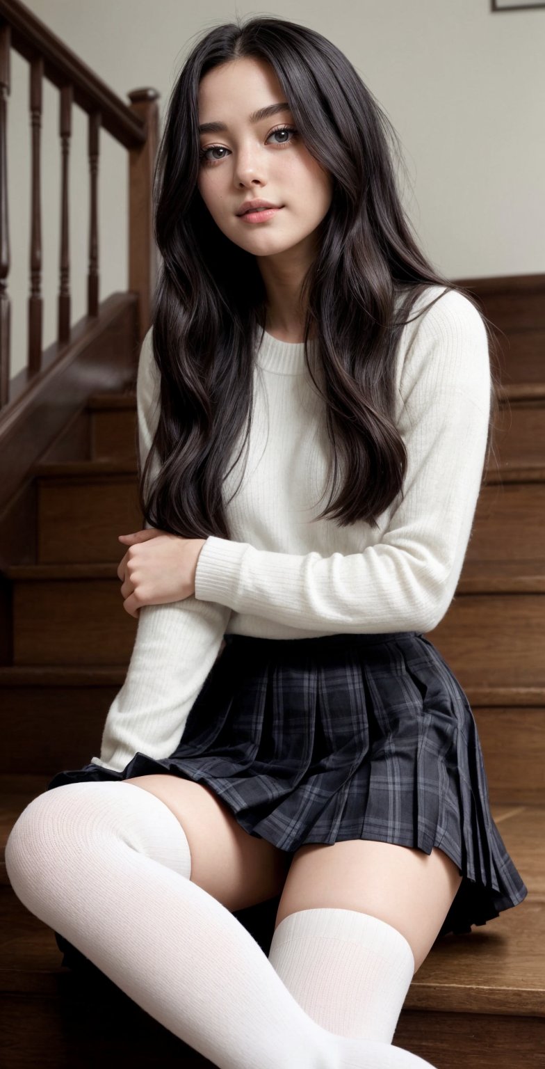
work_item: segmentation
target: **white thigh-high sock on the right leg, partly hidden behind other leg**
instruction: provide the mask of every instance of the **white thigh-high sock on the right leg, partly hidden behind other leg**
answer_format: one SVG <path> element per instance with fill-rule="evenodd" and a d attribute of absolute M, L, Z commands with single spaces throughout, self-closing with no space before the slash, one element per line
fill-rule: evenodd
<path fill-rule="evenodd" d="M 268 959 L 317 1024 L 391 1043 L 415 973 L 392 925 L 355 910 L 301 910 L 280 921 Z"/>

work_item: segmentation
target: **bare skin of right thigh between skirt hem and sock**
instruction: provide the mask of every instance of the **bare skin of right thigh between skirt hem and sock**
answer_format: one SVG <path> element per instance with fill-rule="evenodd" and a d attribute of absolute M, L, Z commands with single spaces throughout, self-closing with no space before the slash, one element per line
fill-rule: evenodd
<path fill-rule="evenodd" d="M 369 839 L 307 843 L 293 855 L 275 930 L 299 910 L 359 910 L 405 936 L 417 972 L 461 883 L 457 866 L 437 847 L 426 854 Z"/>

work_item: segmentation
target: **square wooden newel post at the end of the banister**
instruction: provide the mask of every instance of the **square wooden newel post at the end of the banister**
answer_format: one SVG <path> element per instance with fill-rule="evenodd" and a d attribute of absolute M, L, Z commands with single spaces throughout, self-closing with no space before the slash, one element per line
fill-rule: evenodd
<path fill-rule="evenodd" d="M 159 252 L 153 233 L 153 174 L 159 138 L 159 93 L 135 89 L 130 108 L 146 124 L 143 144 L 128 152 L 128 289 L 139 294 L 140 342 L 151 325 Z"/>

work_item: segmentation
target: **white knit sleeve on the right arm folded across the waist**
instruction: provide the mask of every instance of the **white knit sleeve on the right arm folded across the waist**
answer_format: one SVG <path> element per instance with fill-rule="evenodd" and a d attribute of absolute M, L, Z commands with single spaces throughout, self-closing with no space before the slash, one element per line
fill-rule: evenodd
<path fill-rule="evenodd" d="M 316 632 L 426 632 L 438 624 L 471 532 L 489 418 L 487 334 L 462 294 L 446 292 L 421 316 L 399 394 L 408 468 L 380 541 L 322 556 L 209 537 L 197 566 L 199 601 Z M 269 493 L 274 499 L 274 485 Z"/>

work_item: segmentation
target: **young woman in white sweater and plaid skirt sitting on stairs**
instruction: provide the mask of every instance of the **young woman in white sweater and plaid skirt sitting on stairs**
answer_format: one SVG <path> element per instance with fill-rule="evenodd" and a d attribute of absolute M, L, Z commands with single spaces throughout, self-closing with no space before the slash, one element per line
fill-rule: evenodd
<path fill-rule="evenodd" d="M 429 1065 L 391 1042 L 415 971 L 527 895 L 424 636 L 492 448 L 489 332 L 411 235 L 388 130 L 294 22 L 218 26 L 186 60 L 138 368 L 145 526 L 121 536 L 133 656 L 100 757 L 6 848 L 26 907 L 225 1069 Z M 280 893 L 267 960 L 232 914 Z"/>

